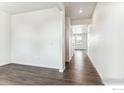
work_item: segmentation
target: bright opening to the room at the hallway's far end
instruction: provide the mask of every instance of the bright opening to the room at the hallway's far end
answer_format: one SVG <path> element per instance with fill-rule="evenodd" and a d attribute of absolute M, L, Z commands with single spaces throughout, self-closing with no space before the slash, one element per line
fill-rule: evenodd
<path fill-rule="evenodd" d="M 72 48 L 74 51 L 87 52 L 88 25 L 72 26 Z"/>

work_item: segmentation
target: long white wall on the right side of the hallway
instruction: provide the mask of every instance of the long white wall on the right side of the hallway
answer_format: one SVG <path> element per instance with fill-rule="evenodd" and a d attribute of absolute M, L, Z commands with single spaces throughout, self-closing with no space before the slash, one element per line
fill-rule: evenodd
<path fill-rule="evenodd" d="M 103 81 L 124 79 L 124 3 L 98 3 L 88 36 L 88 55 Z"/>

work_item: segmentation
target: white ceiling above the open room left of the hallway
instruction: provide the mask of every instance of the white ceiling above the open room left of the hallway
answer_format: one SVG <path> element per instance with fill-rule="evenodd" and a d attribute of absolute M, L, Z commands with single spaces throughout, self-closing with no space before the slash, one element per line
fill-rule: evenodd
<path fill-rule="evenodd" d="M 58 7 L 57 2 L 0 2 L 0 10 L 9 14 L 17 14 L 40 9 Z"/>

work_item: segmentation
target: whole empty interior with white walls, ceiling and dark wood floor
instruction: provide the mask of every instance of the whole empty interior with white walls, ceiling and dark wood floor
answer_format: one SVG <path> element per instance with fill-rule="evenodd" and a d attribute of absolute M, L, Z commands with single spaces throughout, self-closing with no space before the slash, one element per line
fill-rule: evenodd
<path fill-rule="evenodd" d="M 0 85 L 123 85 L 124 3 L 0 2 Z"/>

